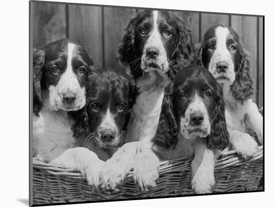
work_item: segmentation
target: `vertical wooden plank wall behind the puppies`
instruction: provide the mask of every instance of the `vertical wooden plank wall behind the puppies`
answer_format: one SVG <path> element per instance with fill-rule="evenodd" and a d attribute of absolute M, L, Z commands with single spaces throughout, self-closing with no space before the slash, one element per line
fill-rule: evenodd
<path fill-rule="evenodd" d="M 43 46 L 64 37 L 76 40 L 92 57 L 95 67 L 117 66 L 117 45 L 123 29 L 138 9 L 66 5 L 35 2 L 33 4 L 33 45 Z M 204 32 L 216 24 L 231 26 L 250 54 L 250 74 L 256 93 L 254 101 L 263 105 L 263 17 L 174 11 L 193 31 L 198 43 Z"/>

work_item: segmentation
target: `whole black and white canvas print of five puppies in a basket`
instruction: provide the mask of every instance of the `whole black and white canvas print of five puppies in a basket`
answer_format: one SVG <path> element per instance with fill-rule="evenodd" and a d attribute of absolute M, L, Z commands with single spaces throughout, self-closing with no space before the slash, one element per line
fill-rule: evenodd
<path fill-rule="evenodd" d="M 29 59 L 30 206 L 264 191 L 264 15 L 31 0 Z"/>

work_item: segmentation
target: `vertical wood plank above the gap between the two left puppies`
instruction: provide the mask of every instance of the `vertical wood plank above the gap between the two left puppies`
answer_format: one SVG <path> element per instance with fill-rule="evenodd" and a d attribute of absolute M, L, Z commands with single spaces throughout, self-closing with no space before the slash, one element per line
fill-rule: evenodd
<path fill-rule="evenodd" d="M 102 7 L 68 5 L 68 37 L 81 44 L 94 62 L 102 67 Z"/>

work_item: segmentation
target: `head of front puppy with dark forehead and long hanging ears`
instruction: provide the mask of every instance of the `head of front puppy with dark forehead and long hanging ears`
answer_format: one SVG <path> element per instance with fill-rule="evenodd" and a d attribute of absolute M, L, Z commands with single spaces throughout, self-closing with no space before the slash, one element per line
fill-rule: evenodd
<path fill-rule="evenodd" d="M 189 65 L 181 69 L 164 90 L 152 143 L 174 149 L 182 137 L 191 142 L 201 137 L 207 140 L 208 148 L 223 150 L 229 135 L 222 96 L 222 89 L 206 68 Z"/>

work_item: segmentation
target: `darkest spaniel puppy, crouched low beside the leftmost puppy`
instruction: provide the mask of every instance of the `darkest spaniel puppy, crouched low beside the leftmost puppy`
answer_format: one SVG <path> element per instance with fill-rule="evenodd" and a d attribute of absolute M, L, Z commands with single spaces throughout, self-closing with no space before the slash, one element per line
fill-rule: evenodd
<path fill-rule="evenodd" d="M 74 137 L 88 135 L 86 145 L 106 161 L 123 144 L 126 115 L 136 93 L 133 78 L 125 69 L 102 68 L 88 76 L 87 105 L 82 113 L 74 112 Z M 82 145 L 84 144 L 81 142 Z M 114 149 L 115 148 L 115 149 Z"/>

